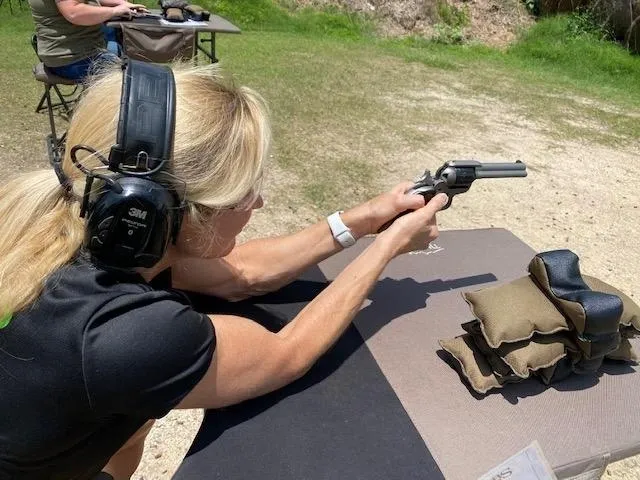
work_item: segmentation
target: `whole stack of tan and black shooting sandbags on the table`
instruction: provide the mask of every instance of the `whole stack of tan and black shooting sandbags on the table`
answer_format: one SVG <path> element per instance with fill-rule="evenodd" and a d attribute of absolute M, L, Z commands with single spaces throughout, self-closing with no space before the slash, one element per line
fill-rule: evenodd
<path fill-rule="evenodd" d="M 595 372 L 605 358 L 638 361 L 628 339 L 640 331 L 640 307 L 630 297 L 583 278 L 578 257 L 568 250 L 536 255 L 529 272 L 463 293 L 478 319 L 462 324 L 466 335 L 440 342 L 475 391 L 532 374 L 550 384 Z"/>

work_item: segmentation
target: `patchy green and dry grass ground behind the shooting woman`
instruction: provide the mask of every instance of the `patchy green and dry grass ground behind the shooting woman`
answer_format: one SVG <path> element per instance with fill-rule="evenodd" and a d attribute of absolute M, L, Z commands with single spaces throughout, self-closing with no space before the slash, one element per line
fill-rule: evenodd
<path fill-rule="evenodd" d="M 588 136 L 617 144 L 640 138 L 637 117 L 619 114 L 640 106 L 640 58 L 592 36 L 571 36 L 565 17 L 541 21 L 511 48 L 497 50 L 381 40 L 370 18 L 300 9 L 292 2 L 200 4 L 243 29 L 239 36 L 219 36 L 218 55 L 239 82 L 269 100 L 274 160 L 291 177 L 277 188 L 318 211 L 346 198 L 364 199 L 386 186 L 390 175 L 398 178 L 391 159 L 415 155 L 438 140 L 438 125 L 482 131 L 480 109 L 460 112 L 446 102 L 425 109 L 430 84 L 510 102 L 558 139 Z M 25 9 L 12 15 L 3 5 L 0 18 L 6 59 L 0 81 L 14 86 L 0 92 L 0 143 L 13 149 L 13 161 L 28 165 L 20 151 L 27 144 L 40 152 L 46 132 L 43 116 L 32 113 L 41 91 L 30 74 L 36 61 L 29 45 L 33 25 Z M 379 170 L 371 168 L 372 158 L 381 159 Z"/>

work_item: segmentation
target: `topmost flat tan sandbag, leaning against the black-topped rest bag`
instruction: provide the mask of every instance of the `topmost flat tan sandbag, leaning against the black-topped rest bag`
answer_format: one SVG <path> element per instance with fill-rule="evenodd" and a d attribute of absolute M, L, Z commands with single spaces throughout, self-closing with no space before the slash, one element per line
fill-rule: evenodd
<path fill-rule="evenodd" d="M 540 291 L 530 276 L 495 287 L 464 292 L 463 298 L 480 320 L 482 334 L 491 348 L 569 330 L 567 319 Z"/>

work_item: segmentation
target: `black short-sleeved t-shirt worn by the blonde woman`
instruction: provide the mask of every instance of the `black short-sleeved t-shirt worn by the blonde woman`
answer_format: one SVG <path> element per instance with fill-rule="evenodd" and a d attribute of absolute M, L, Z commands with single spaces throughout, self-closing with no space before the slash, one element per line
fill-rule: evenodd
<path fill-rule="evenodd" d="M 78 259 L 0 329 L 0 479 L 86 479 L 207 371 L 215 333 L 178 292 Z"/>

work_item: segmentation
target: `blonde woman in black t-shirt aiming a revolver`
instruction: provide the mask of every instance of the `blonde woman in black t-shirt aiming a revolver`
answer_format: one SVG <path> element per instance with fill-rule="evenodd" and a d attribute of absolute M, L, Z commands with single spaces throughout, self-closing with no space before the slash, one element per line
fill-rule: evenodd
<path fill-rule="evenodd" d="M 175 70 L 172 170 L 186 186 L 177 241 L 151 268 L 113 270 L 84 254 L 84 175 L 62 168 L 0 187 L 0 479 L 129 478 L 150 421 L 174 408 L 219 408 L 302 376 L 347 328 L 387 263 L 438 234 L 435 214 L 409 184 L 339 214 L 357 239 L 387 230 L 286 327 L 195 312 L 151 280 L 237 300 L 276 290 L 340 251 L 327 221 L 293 235 L 236 245 L 262 206 L 269 150 L 261 98 L 215 67 Z M 85 93 L 67 145 L 106 154 L 115 142 L 122 73 Z M 91 158 L 85 159 L 91 161 Z M 95 160 L 95 159 L 93 159 Z"/>

